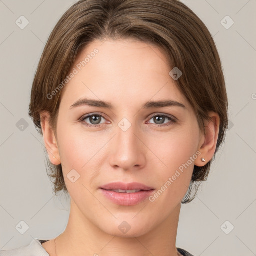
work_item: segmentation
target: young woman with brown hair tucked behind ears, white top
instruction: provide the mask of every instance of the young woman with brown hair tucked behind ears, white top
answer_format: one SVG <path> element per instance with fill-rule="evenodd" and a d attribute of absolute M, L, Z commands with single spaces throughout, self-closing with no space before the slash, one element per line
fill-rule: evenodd
<path fill-rule="evenodd" d="M 177 0 L 80 0 L 54 27 L 31 91 L 63 233 L 0 255 L 192 255 L 176 248 L 227 128 L 219 55 Z"/>

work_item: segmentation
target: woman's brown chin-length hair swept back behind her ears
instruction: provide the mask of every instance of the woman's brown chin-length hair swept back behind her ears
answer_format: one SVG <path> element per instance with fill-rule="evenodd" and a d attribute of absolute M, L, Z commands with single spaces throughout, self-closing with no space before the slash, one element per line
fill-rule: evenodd
<path fill-rule="evenodd" d="M 52 30 L 41 55 L 31 90 L 29 116 L 42 134 L 40 113 L 50 113 L 55 132 L 63 90 L 49 99 L 73 67 L 78 52 L 95 39 L 133 38 L 158 46 L 165 52 L 170 70 L 178 67 L 180 92 L 192 105 L 201 130 L 209 111 L 219 114 L 220 125 L 215 153 L 225 137 L 228 102 L 221 61 L 213 38 L 199 19 L 178 0 L 80 0 L 72 5 Z M 215 153 L 213 159 L 215 157 Z M 182 203 L 194 199 L 199 184 L 207 179 L 210 160 L 194 166 Z M 54 178 L 54 191 L 67 191 L 61 164 L 47 159 Z M 190 197 L 191 191 L 194 195 Z"/>

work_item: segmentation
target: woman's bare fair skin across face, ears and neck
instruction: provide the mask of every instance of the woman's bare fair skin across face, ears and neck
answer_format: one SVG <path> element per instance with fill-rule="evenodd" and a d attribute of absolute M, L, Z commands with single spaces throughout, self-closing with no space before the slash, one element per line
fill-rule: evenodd
<path fill-rule="evenodd" d="M 158 47 L 131 39 L 95 40 L 75 63 L 94 48 L 99 52 L 63 88 L 56 136 L 49 126 L 49 114 L 41 113 L 46 116 L 41 126 L 50 161 L 62 164 L 70 194 L 70 216 L 65 231 L 56 238 L 57 255 L 179 255 L 175 243 L 181 200 L 194 165 L 203 166 L 213 157 L 219 116 L 210 112 L 213 121 L 205 121 L 205 133 L 200 131 Z M 110 102 L 114 108 L 84 105 L 69 109 L 85 97 Z M 166 99 L 186 108 L 141 108 L 149 100 Z M 102 114 L 100 127 L 84 125 L 93 125 L 92 119 L 79 120 L 89 113 Z M 152 118 L 156 113 L 173 116 L 176 122 L 165 118 L 163 124 L 170 125 L 160 126 Z M 122 118 L 131 124 L 127 131 L 118 126 Z M 154 202 L 146 199 L 121 206 L 100 192 L 101 185 L 114 181 L 137 181 L 158 191 L 198 151 L 201 155 Z M 72 169 L 80 175 L 74 183 L 67 178 Z M 118 228 L 123 221 L 131 227 L 126 234 Z M 53 239 L 42 246 L 55 255 Z"/>

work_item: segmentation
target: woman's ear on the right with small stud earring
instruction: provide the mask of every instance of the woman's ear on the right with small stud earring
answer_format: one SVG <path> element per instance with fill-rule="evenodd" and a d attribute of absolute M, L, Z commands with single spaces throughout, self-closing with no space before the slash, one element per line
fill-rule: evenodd
<path fill-rule="evenodd" d="M 201 152 L 201 154 L 195 160 L 196 166 L 204 166 L 207 162 L 209 162 L 216 149 L 220 118 L 217 113 L 212 111 L 210 111 L 208 115 L 210 116 L 211 120 L 204 121 L 205 132 L 204 134 L 201 133 L 201 138 L 197 149 Z M 203 162 L 201 158 L 204 158 L 205 162 Z"/>

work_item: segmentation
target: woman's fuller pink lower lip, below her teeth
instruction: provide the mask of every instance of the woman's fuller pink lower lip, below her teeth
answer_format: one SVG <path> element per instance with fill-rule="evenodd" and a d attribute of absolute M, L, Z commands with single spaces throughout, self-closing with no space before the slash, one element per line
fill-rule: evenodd
<path fill-rule="evenodd" d="M 124 206 L 136 205 L 148 198 L 154 191 L 154 189 L 151 189 L 148 191 L 143 190 L 136 193 L 118 193 L 114 191 L 108 191 L 103 188 L 100 188 L 100 190 L 105 195 L 105 197 L 110 199 L 112 202 Z"/>

